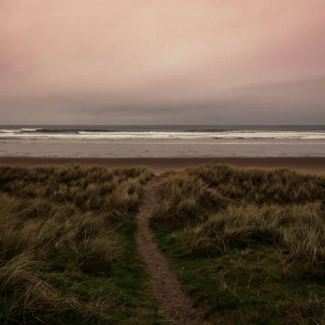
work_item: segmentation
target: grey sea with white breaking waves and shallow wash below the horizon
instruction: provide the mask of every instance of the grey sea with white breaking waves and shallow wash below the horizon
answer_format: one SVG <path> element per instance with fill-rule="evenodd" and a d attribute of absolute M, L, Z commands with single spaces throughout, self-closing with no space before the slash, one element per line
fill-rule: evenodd
<path fill-rule="evenodd" d="M 0 156 L 325 156 L 325 125 L 0 125 Z"/>

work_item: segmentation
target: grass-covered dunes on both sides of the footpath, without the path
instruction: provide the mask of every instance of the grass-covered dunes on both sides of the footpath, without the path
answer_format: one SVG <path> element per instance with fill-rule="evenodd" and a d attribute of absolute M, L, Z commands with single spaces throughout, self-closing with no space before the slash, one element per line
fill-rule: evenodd
<path fill-rule="evenodd" d="M 0 167 L 0 322 L 166 324 L 137 251 L 145 167 Z M 203 317 L 325 322 L 325 176 L 167 171 L 156 241 Z"/>

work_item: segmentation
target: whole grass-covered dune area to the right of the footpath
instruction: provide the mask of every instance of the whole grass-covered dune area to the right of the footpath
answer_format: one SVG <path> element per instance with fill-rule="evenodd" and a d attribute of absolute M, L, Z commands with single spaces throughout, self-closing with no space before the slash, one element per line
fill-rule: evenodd
<path fill-rule="evenodd" d="M 325 176 L 228 165 L 163 176 L 152 227 L 205 317 L 325 322 Z"/>

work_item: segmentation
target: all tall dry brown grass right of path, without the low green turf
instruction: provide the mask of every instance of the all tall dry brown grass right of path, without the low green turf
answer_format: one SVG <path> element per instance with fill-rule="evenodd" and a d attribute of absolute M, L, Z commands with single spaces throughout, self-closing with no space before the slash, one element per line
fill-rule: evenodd
<path fill-rule="evenodd" d="M 288 250 L 322 273 L 325 262 L 323 176 L 289 169 L 186 168 L 161 185 L 155 220 L 186 224 L 171 240 L 187 254 L 227 253 L 263 244 Z"/>

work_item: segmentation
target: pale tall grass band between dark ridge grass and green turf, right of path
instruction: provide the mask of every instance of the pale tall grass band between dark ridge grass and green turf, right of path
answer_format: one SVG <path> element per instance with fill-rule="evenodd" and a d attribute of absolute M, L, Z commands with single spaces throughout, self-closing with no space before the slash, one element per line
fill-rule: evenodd
<path fill-rule="evenodd" d="M 229 205 L 171 239 L 188 254 L 226 254 L 233 249 L 271 245 L 287 251 L 286 261 L 303 264 L 305 274 L 323 274 L 325 211 L 319 204 Z M 297 270 L 296 270 L 297 271 Z"/>

